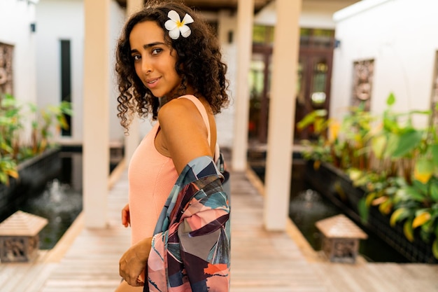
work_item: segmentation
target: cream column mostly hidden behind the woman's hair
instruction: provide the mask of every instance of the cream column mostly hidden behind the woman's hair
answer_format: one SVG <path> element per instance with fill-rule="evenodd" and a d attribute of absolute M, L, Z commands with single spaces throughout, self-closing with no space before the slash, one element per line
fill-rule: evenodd
<path fill-rule="evenodd" d="M 127 17 L 132 13 L 139 11 L 144 5 L 144 0 L 127 0 L 126 13 Z M 129 125 L 129 135 L 125 136 L 125 161 L 127 165 L 131 161 L 132 154 L 140 143 L 140 123 L 139 118 L 134 117 Z"/>

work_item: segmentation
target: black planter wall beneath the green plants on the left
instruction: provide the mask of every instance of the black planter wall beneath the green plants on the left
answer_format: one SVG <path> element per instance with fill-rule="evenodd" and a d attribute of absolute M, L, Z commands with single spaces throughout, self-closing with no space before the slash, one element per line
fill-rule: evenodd
<path fill-rule="evenodd" d="M 18 179 L 10 178 L 9 186 L 0 184 L 0 221 L 45 184 L 54 179 L 61 169 L 59 148 L 52 148 L 18 165 Z"/>

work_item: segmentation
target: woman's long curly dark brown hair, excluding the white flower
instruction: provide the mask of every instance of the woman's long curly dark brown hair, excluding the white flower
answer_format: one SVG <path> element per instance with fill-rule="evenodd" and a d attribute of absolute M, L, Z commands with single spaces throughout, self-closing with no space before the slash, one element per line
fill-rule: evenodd
<path fill-rule="evenodd" d="M 157 119 L 160 101 L 146 88 L 136 75 L 134 60 L 131 56 L 129 35 L 139 22 L 155 21 L 163 32 L 167 32 L 164 23 L 169 20 L 167 14 L 174 10 L 183 19 L 185 13 L 192 16 L 194 22 L 189 27 L 192 34 L 188 38 L 171 39 L 164 33 L 164 41 L 176 50 L 176 72 L 182 78 L 178 95 L 183 95 L 187 85 L 195 89 L 195 96 L 204 97 L 210 104 L 214 114 L 220 113 L 222 107 L 228 103 L 225 78 L 227 65 L 222 62 L 219 41 L 213 34 L 211 27 L 191 8 L 176 2 L 146 4 L 144 8 L 134 13 L 125 24 L 116 48 L 115 71 L 118 75 L 118 117 L 120 125 L 128 130 L 132 116 L 137 113 L 145 118 L 152 113 L 153 120 Z M 167 97 L 174 98 L 174 97 Z"/>

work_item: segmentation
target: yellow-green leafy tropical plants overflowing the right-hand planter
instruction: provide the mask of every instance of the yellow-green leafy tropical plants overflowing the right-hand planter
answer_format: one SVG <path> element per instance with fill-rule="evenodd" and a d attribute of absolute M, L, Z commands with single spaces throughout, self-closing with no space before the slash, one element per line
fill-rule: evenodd
<path fill-rule="evenodd" d="M 310 146 L 304 158 L 336 162 L 334 165 L 344 170 L 355 186 L 365 190 L 358 206 L 363 221 L 367 221 L 370 207 L 378 207 L 390 216 L 391 225 L 403 224 L 410 241 L 418 235 L 432 242 L 438 258 L 438 129 L 435 125 L 414 127 L 414 116 L 430 118 L 431 111 L 395 113 L 392 93 L 386 102 L 381 117 L 371 116 L 361 106 L 352 108 L 336 139 L 327 139 L 324 134 L 316 142 L 304 142 Z M 302 127 L 315 122 L 317 116 L 321 117 L 316 113 L 306 116 Z M 318 123 L 327 123 L 327 130 L 333 122 L 325 118 Z"/>

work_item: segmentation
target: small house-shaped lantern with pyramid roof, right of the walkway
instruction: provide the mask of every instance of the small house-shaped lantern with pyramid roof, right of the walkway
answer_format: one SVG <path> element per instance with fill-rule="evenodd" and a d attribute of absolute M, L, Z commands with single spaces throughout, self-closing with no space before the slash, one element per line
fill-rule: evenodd
<path fill-rule="evenodd" d="M 332 262 L 355 263 L 360 239 L 368 235 L 344 214 L 325 218 L 315 223 L 323 234 L 323 251 Z"/>

